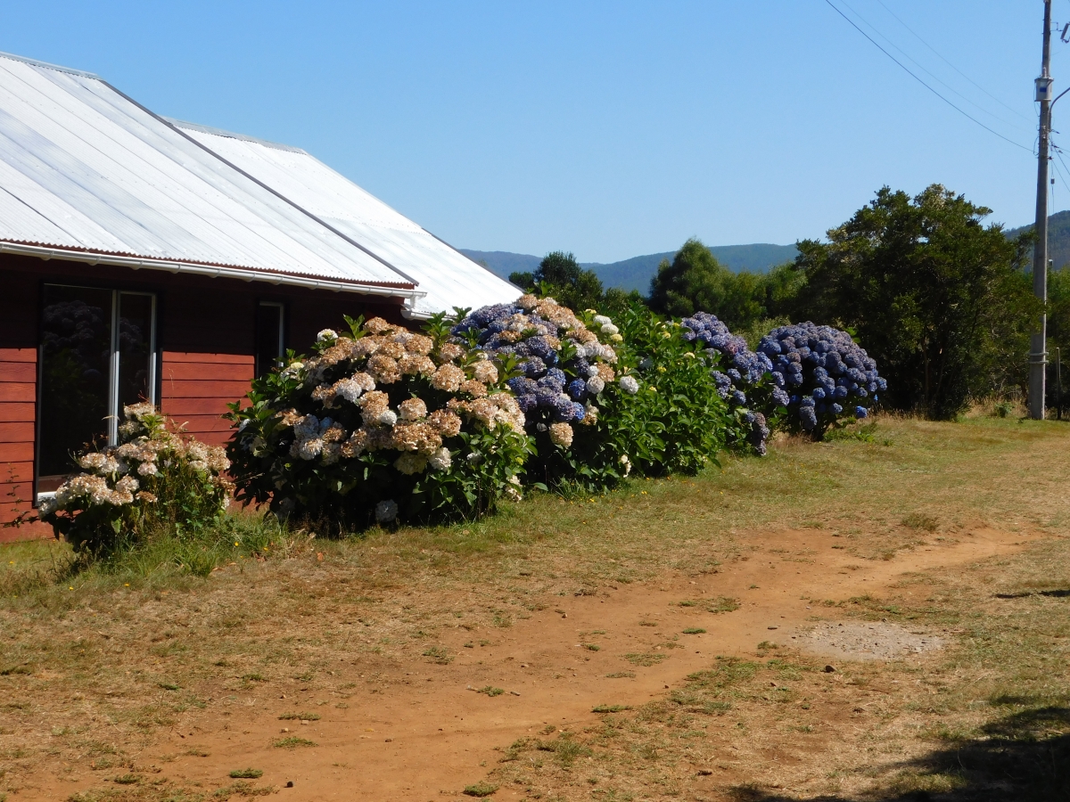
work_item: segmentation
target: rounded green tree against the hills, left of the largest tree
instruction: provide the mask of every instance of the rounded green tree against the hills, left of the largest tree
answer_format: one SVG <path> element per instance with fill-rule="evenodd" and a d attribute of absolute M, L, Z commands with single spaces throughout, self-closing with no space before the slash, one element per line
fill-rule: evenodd
<path fill-rule="evenodd" d="M 672 317 L 710 312 L 734 329 L 751 328 L 768 317 L 765 276 L 733 273 L 699 240 L 684 243 L 651 280 L 651 308 Z"/>

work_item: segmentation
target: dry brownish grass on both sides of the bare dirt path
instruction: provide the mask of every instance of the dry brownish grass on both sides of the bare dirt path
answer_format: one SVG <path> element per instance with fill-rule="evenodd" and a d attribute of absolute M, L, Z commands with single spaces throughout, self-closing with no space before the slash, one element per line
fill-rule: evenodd
<path fill-rule="evenodd" d="M 216 789 L 154 786 L 153 767 L 138 758 L 162 729 L 205 706 L 225 716 L 262 682 L 345 704 L 355 662 L 361 688 L 374 691 L 396 681 L 385 677 L 395 661 L 448 659 L 437 643 L 443 632 L 478 630 L 473 639 L 492 642 L 559 596 L 715 571 L 745 556 L 736 536 L 750 530 L 821 528 L 868 559 L 918 543 L 906 521 L 945 539 L 978 524 L 1061 536 L 1070 531 L 1068 444 L 1070 426 L 1056 423 L 886 419 L 871 443 L 781 441 L 765 460 L 729 459 L 721 472 L 593 498 L 534 497 L 469 525 L 340 542 L 291 536 L 282 557 L 234 559 L 209 580 L 125 565 L 71 574 L 64 546 L 0 547 L 0 798 L 14 802 L 41 772 L 92 776 L 109 789 L 87 800 L 207 798 Z M 542 799 L 713 799 L 731 787 L 740 799 L 890 799 L 970 787 L 931 756 L 947 743 L 980 743 L 999 722 L 1041 727 L 1041 743 L 1065 738 L 1052 734 L 1067 723 L 1066 541 L 911 582 L 930 601 L 904 589 L 847 612 L 961 630 L 921 676 L 896 665 L 825 675 L 776 650 L 722 661 L 678 698 L 555 735 L 549 749 L 515 746 L 493 781 Z M 226 693 L 199 695 L 209 683 Z M 1056 712 L 1026 722 L 1045 709 Z M 142 780 L 105 782 L 131 772 Z"/>

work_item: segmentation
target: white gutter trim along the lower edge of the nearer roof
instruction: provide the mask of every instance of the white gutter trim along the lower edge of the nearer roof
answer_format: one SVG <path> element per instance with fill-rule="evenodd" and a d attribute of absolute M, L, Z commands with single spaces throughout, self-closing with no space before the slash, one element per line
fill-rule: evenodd
<path fill-rule="evenodd" d="M 241 267 L 223 267 L 195 262 L 181 262 L 163 259 L 141 259 L 138 257 L 121 257 L 111 253 L 67 250 L 65 248 L 48 248 L 42 245 L 24 245 L 20 243 L 0 242 L 0 253 L 14 253 L 37 259 L 61 259 L 67 262 L 86 262 L 88 264 L 108 264 L 132 269 L 165 271 L 167 273 L 184 273 L 209 278 L 234 278 L 242 281 L 265 281 L 271 284 L 287 287 L 303 287 L 311 290 L 331 290 L 332 292 L 350 292 L 360 295 L 385 295 L 406 298 L 410 302 L 427 295 L 416 289 L 401 287 L 381 287 L 376 284 L 358 284 L 346 281 L 328 281 L 324 279 L 304 278 L 287 273 L 264 273 L 262 271 L 244 269 Z"/>

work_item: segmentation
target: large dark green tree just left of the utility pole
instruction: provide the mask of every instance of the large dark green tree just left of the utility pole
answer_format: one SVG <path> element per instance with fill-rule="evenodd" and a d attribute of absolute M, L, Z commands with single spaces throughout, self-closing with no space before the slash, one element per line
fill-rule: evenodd
<path fill-rule="evenodd" d="M 989 214 L 938 184 L 913 199 L 882 188 L 828 243 L 798 244 L 796 313 L 857 331 L 898 408 L 950 418 L 972 397 L 1024 386 L 1039 314 L 1031 240 L 982 226 Z"/>

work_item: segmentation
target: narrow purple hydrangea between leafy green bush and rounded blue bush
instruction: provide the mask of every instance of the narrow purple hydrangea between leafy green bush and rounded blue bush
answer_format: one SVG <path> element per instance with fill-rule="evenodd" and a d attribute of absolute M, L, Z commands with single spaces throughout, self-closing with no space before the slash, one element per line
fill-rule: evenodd
<path fill-rule="evenodd" d="M 730 446 L 749 445 L 760 457 L 766 452 L 769 426 L 789 403 L 788 394 L 770 379 L 773 363 L 764 353 L 754 353 L 747 341 L 729 331 L 716 315 L 696 312 L 681 321 L 688 342 L 705 346 L 717 392 L 728 401 L 733 426 Z"/>

